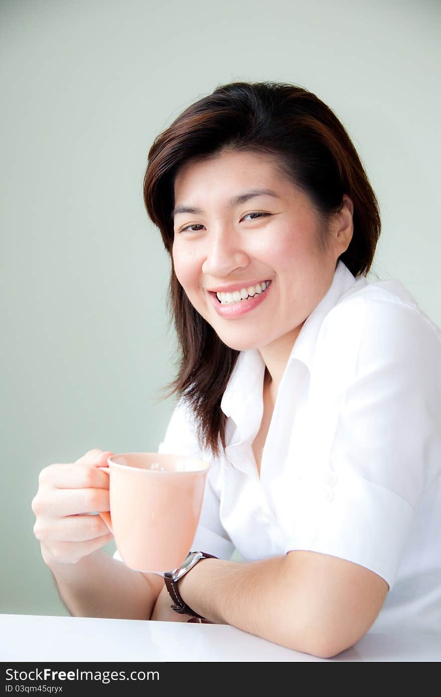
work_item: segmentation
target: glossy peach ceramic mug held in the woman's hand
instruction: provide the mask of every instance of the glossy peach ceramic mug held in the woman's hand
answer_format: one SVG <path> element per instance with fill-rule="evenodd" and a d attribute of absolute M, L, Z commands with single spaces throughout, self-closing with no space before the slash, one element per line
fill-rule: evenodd
<path fill-rule="evenodd" d="M 183 563 L 196 533 L 210 464 L 157 452 L 107 460 L 109 512 L 99 512 L 131 569 L 164 575 Z"/>

